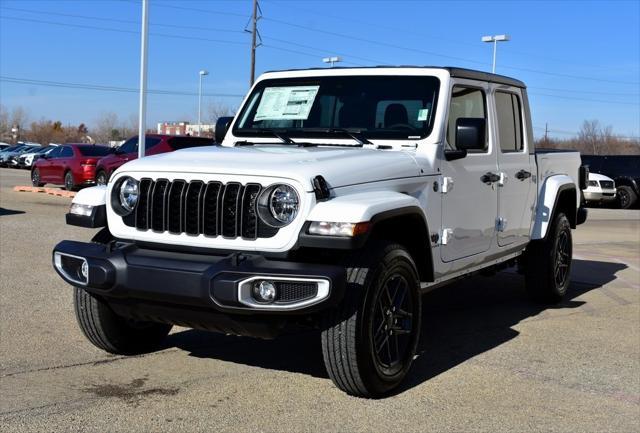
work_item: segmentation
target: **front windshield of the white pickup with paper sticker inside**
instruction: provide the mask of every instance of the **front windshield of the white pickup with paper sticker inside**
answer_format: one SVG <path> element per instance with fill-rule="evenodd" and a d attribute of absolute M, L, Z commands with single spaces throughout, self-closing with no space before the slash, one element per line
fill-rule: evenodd
<path fill-rule="evenodd" d="M 247 99 L 233 134 L 273 137 L 276 130 L 326 137 L 348 130 L 365 138 L 424 138 L 433 127 L 439 84 L 429 76 L 264 80 Z"/>

